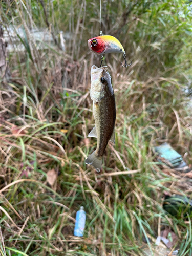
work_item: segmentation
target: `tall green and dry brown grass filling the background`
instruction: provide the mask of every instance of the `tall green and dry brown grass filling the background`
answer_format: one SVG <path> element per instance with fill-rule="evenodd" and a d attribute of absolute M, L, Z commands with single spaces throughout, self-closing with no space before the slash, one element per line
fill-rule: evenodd
<path fill-rule="evenodd" d="M 168 226 L 178 236 L 179 255 L 191 255 L 191 216 L 174 217 L 162 207 L 166 193 L 190 197 L 191 179 L 160 168 L 153 156 L 153 146 L 167 141 L 192 161 L 187 6 L 103 2 L 103 32 L 121 40 L 133 64 L 123 69 L 119 55 L 104 60 L 116 97 L 116 144 L 109 143 L 97 174 L 84 160 L 96 147 L 87 138 L 94 125 L 89 89 L 91 66 L 100 60 L 87 39 L 99 32 L 98 3 L 1 4 L 4 26 L 23 26 L 26 34 L 19 38 L 25 52 L 9 55 L 12 90 L 1 88 L 1 254 L 152 254 Z M 49 27 L 56 38 L 59 30 L 70 32 L 67 52 L 57 45 L 38 50 L 30 36 L 35 26 Z M 84 237 L 76 238 L 80 205 L 87 221 Z"/>

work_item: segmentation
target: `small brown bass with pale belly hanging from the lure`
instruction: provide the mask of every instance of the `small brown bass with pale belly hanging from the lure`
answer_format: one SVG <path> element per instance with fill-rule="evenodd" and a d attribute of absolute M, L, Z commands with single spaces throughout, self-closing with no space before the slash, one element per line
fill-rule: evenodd
<path fill-rule="evenodd" d="M 97 138 L 97 148 L 86 159 L 86 164 L 93 165 L 99 173 L 108 141 L 111 140 L 115 144 L 115 95 L 107 66 L 92 66 L 90 95 L 93 100 L 95 127 L 88 137 Z"/>

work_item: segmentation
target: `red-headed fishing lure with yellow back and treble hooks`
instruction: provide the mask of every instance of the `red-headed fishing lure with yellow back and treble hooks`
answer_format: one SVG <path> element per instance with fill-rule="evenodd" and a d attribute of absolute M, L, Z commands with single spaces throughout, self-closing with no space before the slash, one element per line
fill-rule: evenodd
<path fill-rule="evenodd" d="M 107 53 L 123 53 L 123 58 L 125 60 L 125 66 L 121 65 L 123 67 L 130 66 L 132 62 L 130 62 L 129 65 L 126 63 L 126 52 L 121 45 L 120 41 L 117 40 L 114 36 L 111 35 L 101 35 L 94 38 L 91 38 L 88 40 L 88 47 L 91 51 L 94 53 L 101 55 L 101 65 L 103 61 L 103 54 Z"/>

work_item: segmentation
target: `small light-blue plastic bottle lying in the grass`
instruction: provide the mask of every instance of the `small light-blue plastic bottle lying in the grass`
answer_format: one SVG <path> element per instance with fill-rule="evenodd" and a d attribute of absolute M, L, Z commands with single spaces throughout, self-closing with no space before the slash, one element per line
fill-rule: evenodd
<path fill-rule="evenodd" d="M 82 237 L 85 225 L 86 225 L 86 212 L 84 211 L 83 206 L 81 206 L 80 210 L 78 210 L 76 214 L 74 236 Z"/>

